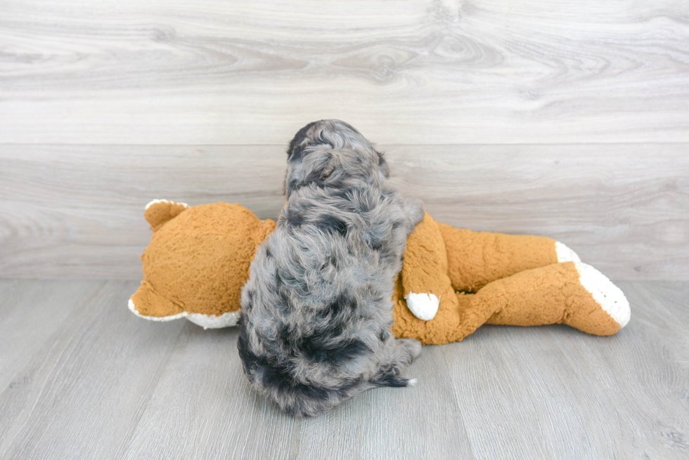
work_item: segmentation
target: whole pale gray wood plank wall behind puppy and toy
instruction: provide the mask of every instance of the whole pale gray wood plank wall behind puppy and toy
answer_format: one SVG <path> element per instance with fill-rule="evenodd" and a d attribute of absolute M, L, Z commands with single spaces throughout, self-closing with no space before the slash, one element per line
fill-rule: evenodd
<path fill-rule="evenodd" d="M 345 119 L 440 221 L 689 279 L 689 4 L 6 0 L 0 277 L 136 279 L 150 199 L 274 217 Z"/>

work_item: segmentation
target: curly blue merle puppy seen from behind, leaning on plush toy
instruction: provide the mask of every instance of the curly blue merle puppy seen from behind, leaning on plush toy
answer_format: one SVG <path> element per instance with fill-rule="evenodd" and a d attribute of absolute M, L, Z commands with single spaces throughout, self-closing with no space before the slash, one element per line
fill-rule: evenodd
<path fill-rule="evenodd" d="M 394 339 L 392 293 L 423 218 L 389 183 L 385 159 L 339 120 L 290 143 L 276 230 L 242 291 L 239 354 L 250 382 L 294 416 L 316 416 L 399 376 L 420 343 Z"/>

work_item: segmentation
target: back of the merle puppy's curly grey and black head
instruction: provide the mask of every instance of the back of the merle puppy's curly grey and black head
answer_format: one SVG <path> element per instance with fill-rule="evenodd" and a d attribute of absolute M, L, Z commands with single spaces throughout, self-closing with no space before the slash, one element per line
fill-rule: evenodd
<path fill-rule="evenodd" d="M 366 138 L 340 120 L 321 120 L 300 129 L 288 148 L 285 193 L 316 183 L 343 187 L 347 178 L 373 181 L 389 177 L 382 153 Z"/>

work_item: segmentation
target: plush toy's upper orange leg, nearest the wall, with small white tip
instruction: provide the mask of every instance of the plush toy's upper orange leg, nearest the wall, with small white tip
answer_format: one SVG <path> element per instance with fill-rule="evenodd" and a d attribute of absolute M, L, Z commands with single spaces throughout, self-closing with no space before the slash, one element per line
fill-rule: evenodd
<path fill-rule="evenodd" d="M 490 282 L 523 270 L 581 261 L 572 249 L 555 239 L 437 225 L 445 242 L 448 274 L 456 291 L 477 292 Z"/>

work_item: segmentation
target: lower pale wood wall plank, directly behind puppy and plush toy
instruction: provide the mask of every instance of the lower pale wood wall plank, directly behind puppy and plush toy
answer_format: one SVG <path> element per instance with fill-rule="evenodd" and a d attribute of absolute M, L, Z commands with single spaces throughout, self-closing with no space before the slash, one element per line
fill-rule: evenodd
<path fill-rule="evenodd" d="M 438 221 L 559 239 L 612 279 L 689 280 L 689 145 L 380 145 Z M 150 199 L 275 218 L 281 146 L 0 145 L 0 277 L 141 277 Z"/>

